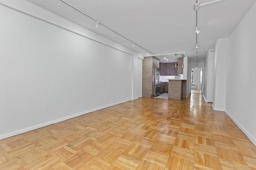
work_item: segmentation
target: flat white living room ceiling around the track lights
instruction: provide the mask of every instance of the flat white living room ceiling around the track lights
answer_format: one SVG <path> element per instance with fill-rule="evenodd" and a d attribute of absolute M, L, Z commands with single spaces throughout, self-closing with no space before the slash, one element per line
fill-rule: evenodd
<path fill-rule="evenodd" d="M 28 0 L 110 40 L 146 55 L 131 42 L 100 26 L 61 0 Z M 65 0 L 154 54 L 186 51 L 195 57 L 194 0 Z M 207 3 L 213 0 L 199 0 Z M 228 37 L 255 0 L 224 0 L 198 11 L 198 59 Z"/>

